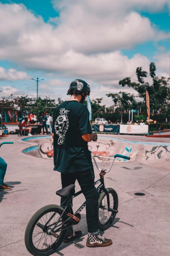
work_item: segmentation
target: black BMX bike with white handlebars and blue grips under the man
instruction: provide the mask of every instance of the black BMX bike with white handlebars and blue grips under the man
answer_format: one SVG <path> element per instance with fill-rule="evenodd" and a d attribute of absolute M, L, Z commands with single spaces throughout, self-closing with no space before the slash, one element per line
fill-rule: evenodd
<path fill-rule="evenodd" d="M 100 179 L 95 181 L 95 185 L 100 183 L 96 188 L 99 191 L 99 220 L 98 228 L 100 230 L 108 229 L 113 223 L 116 214 L 118 213 L 118 195 L 113 188 L 105 188 L 104 175 L 109 172 L 116 157 L 130 160 L 130 157 L 116 154 L 114 157 L 103 157 L 93 155 L 92 158 L 100 171 Z M 111 159 L 112 162 L 108 170 L 100 169 L 95 157 Z M 62 205 L 47 205 L 38 210 L 30 219 L 25 230 L 25 246 L 27 250 L 34 256 L 48 256 L 56 251 L 62 244 L 67 233 L 67 229 L 78 224 L 81 219 L 80 212 L 85 207 L 84 202 L 78 210 L 73 213 L 71 200 L 80 195 L 81 190 L 73 195 L 75 185 L 69 185 L 66 188 L 60 189 L 56 195 L 65 198 Z M 69 212 L 66 213 L 66 208 L 69 207 Z M 67 208 L 68 209 L 68 208 Z"/>

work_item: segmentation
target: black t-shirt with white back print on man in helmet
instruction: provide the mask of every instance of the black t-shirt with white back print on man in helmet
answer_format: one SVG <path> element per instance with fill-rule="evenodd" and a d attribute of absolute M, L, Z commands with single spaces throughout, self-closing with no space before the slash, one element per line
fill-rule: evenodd
<path fill-rule="evenodd" d="M 87 107 L 64 101 L 53 113 L 54 170 L 61 173 L 91 170 L 92 158 L 82 135 L 92 133 Z"/>

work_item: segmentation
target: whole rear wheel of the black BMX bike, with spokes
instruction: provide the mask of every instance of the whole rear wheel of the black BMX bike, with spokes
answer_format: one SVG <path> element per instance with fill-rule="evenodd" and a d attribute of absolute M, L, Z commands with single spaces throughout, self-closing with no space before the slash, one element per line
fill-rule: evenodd
<path fill-rule="evenodd" d="M 25 246 L 27 250 L 34 256 L 48 256 L 63 242 L 67 229 L 55 232 L 56 236 L 49 235 L 47 231 L 54 227 L 55 223 L 63 213 L 64 209 L 59 205 L 47 205 L 38 210 L 30 219 L 25 230 Z M 64 213 L 59 224 L 67 219 Z M 45 225 L 49 220 L 49 223 Z M 56 228 L 57 230 L 57 228 Z"/>

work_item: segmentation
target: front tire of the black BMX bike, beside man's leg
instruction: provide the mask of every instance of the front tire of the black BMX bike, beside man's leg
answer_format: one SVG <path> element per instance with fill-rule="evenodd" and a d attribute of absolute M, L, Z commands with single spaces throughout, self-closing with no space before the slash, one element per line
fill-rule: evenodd
<path fill-rule="evenodd" d="M 114 209 L 114 210 L 118 210 L 118 195 L 116 193 L 116 191 L 113 189 L 113 188 L 106 188 L 107 189 L 107 192 L 109 193 L 109 197 L 110 195 L 113 197 L 113 204 L 112 202 L 110 202 L 110 208 Z M 105 207 L 107 209 L 102 209 L 102 207 L 104 206 L 102 204 L 102 201 L 105 201 L 105 203 L 103 203 L 104 205 L 106 205 Z M 107 206 L 107 197 L 106 197 L 106 193 L 103 191 L 100 196 L 99 196 L 99 199 L 98 199 L 98 202 L 99 202 L 99 220 L 98 220 L 98 228 L 100 230 L 106 230 L 108 229 L 111 224 L 113 223 L 115 217 L 116 217 L 116 213 L 113 213 L 113 212 L 108 212 L 108 206 Z M 109 213 L 110 213 L 110 216 L 109 218 L 107 217 L 107 221 L 106 223 L 103 224 L 103 221 L 102 221 L 102 212 L 103 214 L 105 214 L 107 216 L 109 216 Z M 102 217 L 101 217 L 102 216 Z M 102 222 L 102 223 L 101 223 Z"/>

